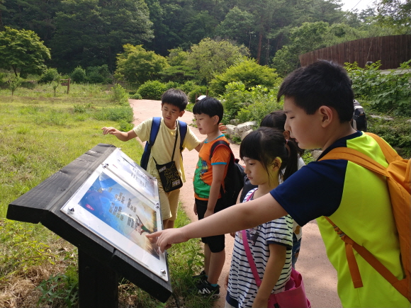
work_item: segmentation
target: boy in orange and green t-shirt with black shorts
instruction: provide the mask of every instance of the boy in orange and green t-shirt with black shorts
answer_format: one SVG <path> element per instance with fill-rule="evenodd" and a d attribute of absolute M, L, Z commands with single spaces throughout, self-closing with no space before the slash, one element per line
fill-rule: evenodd
<path fill-rule="evenodd" d="M 228 140 L 221 134 L 218 125 L 223 118 L 223 105 L 215 98 L 206 97 L 198 101 L 193 108 L 196 125 L 202 135 L 207 135 L 204 145 L 198 153 L 198 164 L 194 173 L 194 212 L 198 219 L 213 215 L 215 212 L 225 209 L 227 204 L 221 198 L 220 189 L 224 186 L 224 178 L 227 174 L 227 166 L 231 153 L 227 147 L 216 147 L 210 159 L 210 150 L 215 142 Z M 218 278 L 223 270 L 225 261 L 225 235 L 203 237 L 204 243 L 204 270 L 194 278 L 196 292 L 209 296 L 213 300 L 220 297 Z"/>

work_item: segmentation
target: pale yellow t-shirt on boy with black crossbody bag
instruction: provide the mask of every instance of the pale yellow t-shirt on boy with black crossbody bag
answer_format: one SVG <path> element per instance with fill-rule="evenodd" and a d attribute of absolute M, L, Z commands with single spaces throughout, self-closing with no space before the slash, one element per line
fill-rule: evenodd
<path fill-rule="evenodd" d="M 141 122 L 140 125 L 134 127 L 133 130 L 137 137 L 140 138 L 142 142 L 147 141 L 150 139 L 150 131 L 152 126 L 152 118 Z M 156 168 L 156 163 L 153 159 L 157 161 L 157 164 L 167 164 L 171 161 L 171 155 L 173 154 L 174 149 L 174 142 L 176 141 L 176 128 L 174 130 L 170 130 L 167 125 L 164 124 L 164 119 L 162 118 L 159 128 L 159 133 L 157 138 L 155 139 L 154 145 L 151 148 L 150 158 L 147 164 L 147 172 L 150 173 L 152 176 L 155 176 L 157 180 L 159 180 L 159 173 Z M 200 140 L 196 137 L 196 135 L 191 132 L 190 128 L 187 127 L 186 137 L 184 138 L 183 148 L 187 148 L 188 151 L 195 149 L 198 144 L 200 144 Z M 176 144 L 176 151 L 174 152 L 174 161 L 176 162 L 176 168 L 179 171 L 179 174 L 183 180 L 186 181 L 186 177 L 184 176 L 184 168 L 183 168 L 183 161 L 181 159 L 180 154 L 180 129 L 179 135 L 177 136 L 177 144 Z M 182 170 L 181 170 L 182 169 Z"/>

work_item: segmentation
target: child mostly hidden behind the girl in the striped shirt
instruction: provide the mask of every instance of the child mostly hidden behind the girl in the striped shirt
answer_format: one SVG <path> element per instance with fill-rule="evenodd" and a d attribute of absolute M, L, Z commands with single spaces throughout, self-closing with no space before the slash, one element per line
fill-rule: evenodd
<path fill-rule="evenodd" d="M 286 113 L 284 113 L 282 110 L 274 111 L 266 115 L 263 118 L 263 120 L 261 120 L 260 127 L 263 127 L 263 126 L 274 127 L 278 130 L 281 130 L 281 132 L 283 132 L 283 136 L 286 140 L 292 140 L 290 138 L 290 132 L 284 130 L 286 119 L 287 119 Z M 301 158 L 301 155 L 304 154 L 304 150 L 297 147 L 297 151 L 298 151 L 298 169 L 300 169 L 301 167 L 305 166 L 305 163 L 303 159 Z M 279 179 L 279 183 L 280 184 L 283 183 L 283 178 Z M 245 176 L 244 177 L 244 188 L 242 189 L 240 202 L 243 202 L 245 195 L 248 193 L 248 191 L 252 190 L 252 188 L 255 188 L 255 187 L 256 186 L 250 183 L 247 176 Z M 295 268 L 295 263 L 297 262 L 298 254 L 300 253 L 302 237 L 303 237 L 303 230 L 294 221 L 294 225 L 293 225 L 293 268 Z"/>

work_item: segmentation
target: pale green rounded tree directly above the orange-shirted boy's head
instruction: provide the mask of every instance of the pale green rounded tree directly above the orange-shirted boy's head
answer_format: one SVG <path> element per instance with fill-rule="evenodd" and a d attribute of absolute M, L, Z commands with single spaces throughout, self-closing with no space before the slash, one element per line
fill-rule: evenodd
<path fill-rule="evenodd" d="M 248 53 L 244 45 L 236 46 L 227 40 L 205 38 L 191 46 L 186 65 L 198 70 L 198 80 L 210 82 L 215 74 L 221 74 L 228 67 L 241 62 Z"/>

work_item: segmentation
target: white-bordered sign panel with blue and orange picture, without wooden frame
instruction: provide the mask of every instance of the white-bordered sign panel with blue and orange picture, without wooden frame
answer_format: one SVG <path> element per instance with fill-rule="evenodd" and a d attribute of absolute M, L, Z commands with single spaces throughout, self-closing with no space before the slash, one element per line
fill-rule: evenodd
<path fill-rule="evenodd" d="M 145 236 L 162 229 L 157 180 L 120 149 L 95 169 L 61 211 L 169 280 L 165 253 Z"/>

